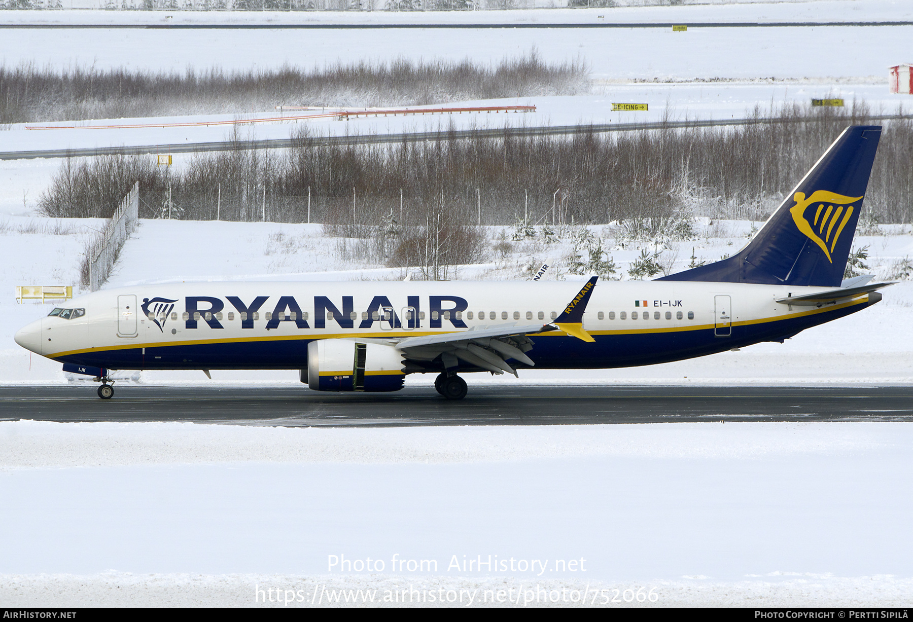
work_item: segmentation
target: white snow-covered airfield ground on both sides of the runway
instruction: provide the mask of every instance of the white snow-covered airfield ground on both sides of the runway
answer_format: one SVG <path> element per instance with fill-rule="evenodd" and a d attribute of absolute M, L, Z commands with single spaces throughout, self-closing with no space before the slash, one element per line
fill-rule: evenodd
<path fill-rule="evenodd" d="M 899 0 L 454 14 L 0 13 L 5 23 L 83 24 L 911 18 L 913 5 Z M 886 112 L 908 106 L 908 98 L 887 94 L 886 78 L 889 65 L 910 60 L 909 26 L 394 32 L 14 29 L 0 37 L 0 62 L 247 70 L 397 57 L 488 63 L 535 47 L 548 61 L 585 60 L 593 88 L 573 98 L 499 102 L 535 103 L 534 115 L 517 116 L 530 124 L 664 115 L 725 119 L 756 105 L 824 97 L 865 99 Z M 660 83 L 644 82 L 655 78 Z M 715 78 L 724 81 L 707 81 Z M 613 113 L 613 101 L 647 101 L 650 111 Z M 488 121 L 459 122 L 473 120 Z M 293 127 L 277 123 L 252 131 L 258 138 L 281 137 Z M 410 128 L 402 119 L 321 121 L 315 127 Z M 14 127 L 0 130 L 0 146 L 224 136 L 225 130 L 205 129 Z M 183 161 L 178 156 L 175 165 Z M 76 381 L 57 364 L 30 358 L 12 339 L 18 327 L 50 308 L 16 305 L 15 285 L 76 285 L 83 246 L 102 225 L 34 216 L 58 167 L 55 160 L 0 162 L 0 384 Z M 505 229 L 509 236 L 511 228 Z M 624 273 L 637 245 L 623 248 L 611 227 L 590 229 Z M 750 223 L 701 218 L 697 229 L 698 239 L 666 249 L 665 260 L 676 269 L 686 267 L 692 253 L 698 261 L 732 254 L 746 242 Z M 500 231 L 488 233 L 494 243 Z M 459 276 L 522 278 L 529 264 L 552 259 L 559 269 L 550 277 L 582 278 L 561 268 L 572 251 L 572 233 L 559 244 L 512 241 L 508 252 L 463 267 Z M 869 247 L 872 272 L 897 278 L 913 255 L 913 230 L 893 225 L 866 233 L 857 234 L 855 245 Z M 320 225 L 144 220 L 106 286 L 403 277 L 398 269 L 355 264 L 338 252 L 339 244 L 324 237 Z M 470 385 L 910 385 L 913 285 L 903 281 L 884 295 L 871 309 L 784 344 L 650 368 L 468 379 Z M 202 374 L 142 372 L 121 381 L 300 386 L 295 372 L 213 375 L 209 381 Z M 415 380 L 423 381 L 430 378 Z M 366 598 L 383 605 L 389 598 L 388 604 L 401 606 L 468 606 L 471 598 L 471 606 L 571 606 L 582 599 L 605 606 L 906 606 L 913 597 L 911 451 L 913 428 L 899 423 L 302 430 L 2 421 L 0 604 L 284 606 L 291 598 L 289 605 L 326 606 L 336 604 L 334 598 L 341 605 L 361 605 Z M 332 555 L 337 565 L 330 565 Z M 342 555 L 361 565 L 343 566 Z M 491 572 L 463 566 L 464 560 L 488 561 L 488 555 L 498 560 Z M 368 557 L 372 571 L 365 568 Z M 402 568 L 394 559 L 403 561 Z M 508 563 L 503 570 L 502 560 Z M 362 592 L 340 592 L 350 589 Z M 424 600 L 416 603 L 416 597 Z"/>

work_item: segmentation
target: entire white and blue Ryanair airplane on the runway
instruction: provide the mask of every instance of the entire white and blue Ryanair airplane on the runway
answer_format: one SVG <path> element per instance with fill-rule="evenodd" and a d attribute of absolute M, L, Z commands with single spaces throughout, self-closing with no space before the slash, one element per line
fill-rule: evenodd
<path fill-rule="evenodd" d="M 459 373 L 620 368 L 701 357 L 881 299 L 843 281 L 881 128 L 847 128 L 739 254 L 653 281 L 136 285 L 79 296 L 16 343 L 94 376 L 111 370 L 299 369 L 322 391 L 394 391 L 414 373 L 462 399 Z"/>

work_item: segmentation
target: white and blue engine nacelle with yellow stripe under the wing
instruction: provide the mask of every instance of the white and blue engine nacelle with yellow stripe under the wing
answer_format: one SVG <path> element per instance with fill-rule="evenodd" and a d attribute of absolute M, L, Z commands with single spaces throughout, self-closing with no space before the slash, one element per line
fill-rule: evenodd
<path fill-rule="evenodd" d="M 398 391 L 404 378 L 395 347 L 351 339 L 308 344 L 308 386 L 316 391 Z"/>

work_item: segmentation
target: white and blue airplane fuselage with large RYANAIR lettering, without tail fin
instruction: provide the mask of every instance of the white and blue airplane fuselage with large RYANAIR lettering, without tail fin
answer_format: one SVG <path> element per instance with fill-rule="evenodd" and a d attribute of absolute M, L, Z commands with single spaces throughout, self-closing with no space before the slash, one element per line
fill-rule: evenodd
<path fill-rule="evenodd" d="M 16 340 L 60 362 L 109 369 L 303 369 L 316 339 L 376 341 L 548 324 L 576 282 L 288 282 L 137 285 L 79 296 L 84 315 L 47 316 Z M 684 281 L 601 281 L 583 315 L 587 343 L 531 335 L 536 368 L 620 368 L 782 341 L 870 306 L 776 299 L 827 289 Z M 74 314 L 75 315 L 75 314 Z M 426 362 L 434 371 L 431 362 Z M 515 367 L 523 368 L 523 364 Z M 413 370 L 418 370 L 413 368 Z M 408 373 L 408 371 L 407 371 Z"/>

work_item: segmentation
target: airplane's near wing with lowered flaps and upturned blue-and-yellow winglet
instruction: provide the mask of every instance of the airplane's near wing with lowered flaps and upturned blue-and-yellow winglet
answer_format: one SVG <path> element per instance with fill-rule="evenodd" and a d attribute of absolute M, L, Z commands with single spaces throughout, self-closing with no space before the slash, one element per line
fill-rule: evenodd
<path fill-rule="evenodd" d="M 582 317 L 598 278 L 593 276 L 587 281 L 561 315 L 548 324 L 513 324 L 494 328 L 470 328 L 457 333 L 425 337 L 406 337 L 397 342 L 396 347 L 403 351 L 406 358 L 417 361 L 430 361 L 440 356 L 447 369 L 459 367 L 459 361 L 462 360 L 468 365 L 488 369 L 495 374 L 503 374 L 506 371 L 516 376 L 517 370 L 508 364 L 508 359 L 513 358 L 530 367 L 535 365 L 535 362 L 525 354 L 534 345 L 527 335 L 561 330 L 583 341 L 594 341 L 593 337 L 583 330 Z"/>

